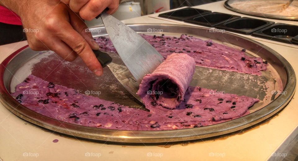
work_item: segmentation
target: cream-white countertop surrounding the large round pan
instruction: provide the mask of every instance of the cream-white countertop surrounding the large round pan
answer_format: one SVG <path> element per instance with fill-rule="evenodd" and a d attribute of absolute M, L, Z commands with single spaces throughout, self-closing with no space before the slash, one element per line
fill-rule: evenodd
<path fill-rule="evenodd" d="M 198 6 L 218 9 L 223 2 Z M 219 11 L 216 10 L 216 11 Z M 220 12 L 232 13 L 221 6 Z M 237 14 L 239 15 L 239 14 Z M 152 16 L 152 15 L 151 15 Z M 154 15 L 153 15 L 154 16 Z M 243 15 L 242 15 L 243 16 Z M 273 20 L 274 21 L 274 20 Z M 125 23 L 178 24 L 142 16 Z M 250 36 L 247 36 L 250 37 Z M 298 73 L 297 47 L 255 39 L 281 54 Z M 1 62 L 27 42 L 0 46 Z M 296 76 L 297 77 L 297 76 Z M 298 125 L 298 101 L 291 102 L 278 115 L 250 130 L 190 144 L 163 146 L 107 145 L 59 135 L 25 122 L 0 104 L 0 158 L 11 160 L 267 160 Z M 52 142 L 58 139 L 57 143 Z M 91 156 L 85 156 L 91 155 Z M 24 156 L 25 155 L 25 156 Z M 26 156 L 29 155 L 29 156 Z M 148 156 L 149 155 L 149 156 Z M 153 155 L 153 156 L 150 156 Z"/>

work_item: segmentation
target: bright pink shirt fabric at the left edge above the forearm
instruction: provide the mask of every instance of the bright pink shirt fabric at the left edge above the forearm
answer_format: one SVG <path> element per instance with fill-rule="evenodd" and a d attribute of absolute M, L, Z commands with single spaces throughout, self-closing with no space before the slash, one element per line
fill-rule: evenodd
<path fill-rule="evenodd" d="M 0 6 L 0 22 L 11 25 L 22 25 L 21 18 L 6 7 Z"/>

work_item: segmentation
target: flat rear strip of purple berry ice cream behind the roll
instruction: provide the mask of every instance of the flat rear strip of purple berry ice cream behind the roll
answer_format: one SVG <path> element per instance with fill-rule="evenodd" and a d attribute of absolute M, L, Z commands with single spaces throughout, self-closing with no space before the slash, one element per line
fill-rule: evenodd
<path fill-rule="evenodd" d="M 151 36 L 141 34 L 164 58 L 172 53 L 186 53 L 194 58 L 196 65 L 220 70 L 234 71 L 261 75 L 267 69 L 267 64 L 262 58 L 245 55 L 244 49 L 235 49 L 212 40 L 201 40 L 186 34 L 180 38 L 165 36 Z M 99 37 L 95 41 L 101 50 L 116 52 L 109 38 Z"/>

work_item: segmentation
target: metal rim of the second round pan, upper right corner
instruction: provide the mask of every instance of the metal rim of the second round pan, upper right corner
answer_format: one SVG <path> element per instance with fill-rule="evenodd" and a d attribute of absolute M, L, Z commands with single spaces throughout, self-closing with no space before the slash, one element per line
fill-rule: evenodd
<path fill-rule="evenodd" d="M 273 19 L 280 19 L 280 20 L 295 20 L 295 21 L 298 21 L 298 17 L 270 15 L 270 14 L 250 12 L 250 11 L 245 11 L 245 10 L 242 10 L 242 9 L 239 9 L 239 8 L 234 8 L 234 7 L 231 6 L 231 4 L 234 3 L 234 2 L 247 2 L 247 0 L 227 0 L 226 2 L 224 2 L 224 7 L 228 8 L 229 10 L 235 11 L 237 13 L 243 13 L 243 14 L 251 15 L 251 16 L 273 18 Z M 285 1 L 285 4 L 286 3 L 287 3 L 287 1 Z"/>

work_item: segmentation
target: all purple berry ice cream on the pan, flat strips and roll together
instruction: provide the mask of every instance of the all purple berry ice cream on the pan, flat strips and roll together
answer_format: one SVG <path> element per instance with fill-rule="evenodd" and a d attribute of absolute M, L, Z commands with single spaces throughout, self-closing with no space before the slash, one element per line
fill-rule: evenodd
<path fill-rule="evenodd" d="M 166 58 L 153 73 L 143 78 L 138 91 L 149 112 L 84 95 L 34 75 L 18 84 L 11 95 L 27 108 L 60 121 L 145 131 L 201 127 L 237 119 L 249 114 L 248 108 L 259 101 L 188 85 L 195 65 L 261 75 L 267 66 L 262 58 L 246 56 L 245 49 L 238 51 L 187 35 L 142 37 Z M 116 52 L 108 38 L 96 38 L 96 42 L 102 50 Z"/>

